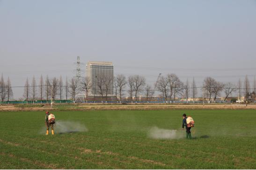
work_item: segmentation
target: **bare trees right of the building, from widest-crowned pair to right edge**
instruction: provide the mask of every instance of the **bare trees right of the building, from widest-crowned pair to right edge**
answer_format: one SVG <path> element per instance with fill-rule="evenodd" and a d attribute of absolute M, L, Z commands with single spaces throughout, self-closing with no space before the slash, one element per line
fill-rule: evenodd
<path fill-rule="evenodd" d="M 232 82 L 222 83 L 216 81 L 212 77 L 206 77 L 202 87 L 196 86 L 194 78 L 190 87 L 188 80 L 184 83 L 177 75 L 168 74 L 166 76 L 161 75 L 158 78 L 155 86 L 157 90 L 161 92 L 162 96 L 166 100 L 170 101 L 175 101 L 177 95 L 182 98 L 186 98 L 186 100 L 188 100 L 189 96 L 191 96 L 193 101 L 195 101 L 198 88 L 203 89 L 203 93 L 207 97 L 208 101 L 216 101 L 217 96 L 220 96 L 223 92 L 225 94 L 224 101 L 226 101 L 228 96 L 237 91 L 239 92 L 239 99 L 241 99 L 241 95 L 243 95 L 247 101 L 248 98 L 255 98 L 256 81 L 254 80 L 254 91 L 250 90 L 251 88 L 247 75 L 245 76 L 244 86 L 241 85 L 240 79 L 238 85 L 235 85 Z"/>

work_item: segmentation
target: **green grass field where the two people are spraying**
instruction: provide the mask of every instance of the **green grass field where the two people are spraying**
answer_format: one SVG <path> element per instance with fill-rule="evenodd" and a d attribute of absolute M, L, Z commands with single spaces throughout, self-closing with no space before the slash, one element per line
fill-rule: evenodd
<path fill-rule="evenodd" d="M 182 138 L 150 136 L 152 128 L 180 129 L 183 113 L 195 120 L 192 140 L 186 140 L 182 130 L 176 131 Z M 0 112 L 0 169 L 256 169 L 256 110 L 54 115 L 66 123 L 66 130 L 56 125 L 56 135 L 46 136 L 44 112 Z M 70 130 L 73 125 L 83 131 Z"/>

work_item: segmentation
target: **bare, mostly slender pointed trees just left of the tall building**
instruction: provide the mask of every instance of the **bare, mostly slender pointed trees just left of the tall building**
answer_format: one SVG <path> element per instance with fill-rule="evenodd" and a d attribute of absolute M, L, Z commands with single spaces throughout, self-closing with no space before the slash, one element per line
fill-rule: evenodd
<path fill-rule="evenodd" d="M 46 100 L 48 102 L 51 99 L 55 101 L 57 96 L 59 96 L 60 101 L 67 101 L 68 99 L 74 101 L 75 96 L 84 90 L 88 99 L 88 92 L 91 87 L 91 83 L 87 77 L 80 79 L 73 77 L 70 80 L 66 77 L 66 81 L 63 82 L 62 76 L 59 78 L 49 78 L 47 75 L 44 80 L 41 75 L 39 84 L 37 85 L 35 76 L 33 76 L 31 84 L 29 84 L 29 79 L 26 79 L 23 97 L 26 101 L 33 102 L 36 100 Z"/>

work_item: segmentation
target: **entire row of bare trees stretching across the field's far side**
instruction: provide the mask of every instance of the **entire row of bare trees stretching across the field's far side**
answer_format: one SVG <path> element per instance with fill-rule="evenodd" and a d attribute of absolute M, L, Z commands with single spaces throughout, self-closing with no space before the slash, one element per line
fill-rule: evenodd
<path fill-rule="evenodd" d="M 186 82 L 182 82 L 179 77 L 175 74 L 168 74 L 166 76 L 160 75 L 154 87 L 146 84 L 146 79 L 141 75 L 130 75 L 129 77 L 125 77 L 124 75 L 116 75 L 114 79 L 110 76 L 98 76 L 96 79 L 95 87 L 97 88 L 99 94 L 105 97 L 106 101 L 108 101 L 108 96 L 112 92 L 112 86 L 114 88 L 114 95 L 117 100 L 122 101 L 123 96 L 127 94 L 130 96 L 131 100 L 135 98 L 137 101 L 139 95 L 146 96 L 146 100 L 148 101 L 154 95 L 155 89 L 159 91 L 162 97 L 165 100 L 175 101 L 178 97 L 188 100 L 189 97 L 195 101 L 197 97 L 197 89 L 202 89 L 205 98 L 208 101 L 214 100 L 216 101 L 217 97 L 221 94 L 225 94 L 225 101 L 228 96 L 232 93 L 237 92 L 239 95 L 239 99 L 241 96 L 244 96 L 247 101 L 249 98 L 255 98 L 255 88 L 256 88 L 256 80 L 254 80 L 254 90 L 251 90 L 248 76 L 245 76 L 244 83 L 242 85 L 241 80 L 239 79 L 237 85 L 232 82 L 222 83 L 216 81 L 212 77 L 206 77 L 203 82 L 202 87 L 197 87 L 195 80 L 190 83 L 188 79 Z M 95 88 L 94 87 L 94 88 Z M 78 95 L 81 91 L 84 91 L 86 94 L 86 101 L 88 101 L 88 94 L 92 92 L 93 86 L 92 82 L 85 78 L 71 78 L 63 82 L 62 77 L 59 78 L 53 77 L 49 78 L 46 76 L 45 80 L 41 75 L 40 80 L 37 84 L 35 76 L 32 77 L 31 83 L 29 83 L 29 79 L 26 79 L 24 85 L 24 93 L 23 97 L 26 101 L 36 101 L 36 100 L 49 100 L 55 101 L 57 97 L 60 100 L 75 100 L 75 96 Z M 93 93 L 92 93 L 93 94 Z M 9 101 L 13 96 L 11 81 L 8 77 L 7 81 L 4 81 L 3 75 L 0 78 L 0 97 L 1 102 Z"/>

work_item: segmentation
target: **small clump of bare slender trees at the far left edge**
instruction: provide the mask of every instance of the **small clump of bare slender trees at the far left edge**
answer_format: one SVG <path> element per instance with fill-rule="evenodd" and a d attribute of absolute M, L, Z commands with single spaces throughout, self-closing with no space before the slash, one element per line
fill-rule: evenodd
<path fill-rule="evenodd" d="M 1 79 L 0 79 L 0 97 L 1 97 L 1 103 L 3 103 L 4 101 L 9 102 L 10 99 L 13 97 L 11 80 L 8 77 L 7 81 L 5 82 L 3 74 L 1 75 Z"/>

